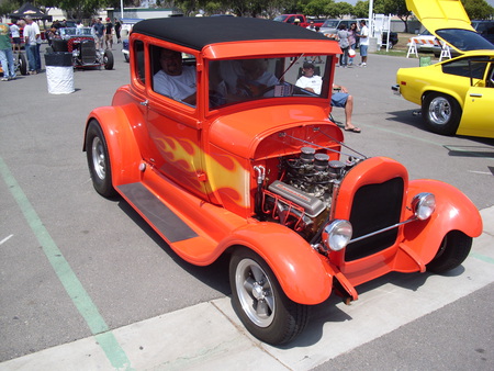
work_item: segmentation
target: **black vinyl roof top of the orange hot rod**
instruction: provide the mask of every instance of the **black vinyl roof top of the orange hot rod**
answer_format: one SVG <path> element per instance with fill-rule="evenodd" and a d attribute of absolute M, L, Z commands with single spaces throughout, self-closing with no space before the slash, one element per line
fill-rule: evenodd
<path fill-rule="evenodd" d="M 261 40 L 323 40 L 323 34 L 293 24 L 237 16 L 160 18 L 141 21 L 133 33 L 172 42 L 197 50 L 205 45 Z"/>

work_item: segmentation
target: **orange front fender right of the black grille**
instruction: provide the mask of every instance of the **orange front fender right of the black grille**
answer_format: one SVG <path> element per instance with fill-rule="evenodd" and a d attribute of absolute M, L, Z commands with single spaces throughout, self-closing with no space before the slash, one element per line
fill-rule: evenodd
<path fill-rule="evenodd" d="M 482 217 L 472 201 L 457 188 L 437 180 L 418 179 L 408 183 L 408 200 L 430 192 L 436 196 L 436 211 L 427 221 L 405 224 L 404 244 L 417 254 L 425 265 L 436 256 L 442 238 L 450 231 L 460 231 L 470 237 L 482 234 Z"/>

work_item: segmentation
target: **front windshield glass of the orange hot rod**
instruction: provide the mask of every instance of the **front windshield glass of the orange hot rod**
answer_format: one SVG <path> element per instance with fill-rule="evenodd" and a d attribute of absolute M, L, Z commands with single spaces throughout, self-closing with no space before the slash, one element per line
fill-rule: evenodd
<path fill-rule="evenodd" d="M 245 101 L 297 97 L 327 98 L 328 79 L 323 78 L 330 56 L 299 55 L 292 57 L 228 59 L 210 61 L 210 108 Z M 304 63 L 314 60 L 313 68 Z M 312 88 L 301 77 L 313 77 Z"/>

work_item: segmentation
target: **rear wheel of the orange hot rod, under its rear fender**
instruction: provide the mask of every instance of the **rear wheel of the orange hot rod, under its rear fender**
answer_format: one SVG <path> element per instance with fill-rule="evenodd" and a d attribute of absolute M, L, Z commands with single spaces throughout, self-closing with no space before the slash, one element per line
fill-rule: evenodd
<path fill-rule="evenodd" d="M 86 155 L 92 184 L 105 198 L 115 195 L 106 140 L 100 124 L 91 120 L 86 132 Z"/>

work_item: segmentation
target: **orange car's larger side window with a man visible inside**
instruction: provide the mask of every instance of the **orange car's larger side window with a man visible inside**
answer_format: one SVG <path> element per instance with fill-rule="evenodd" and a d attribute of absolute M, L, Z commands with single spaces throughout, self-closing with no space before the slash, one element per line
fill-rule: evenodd
<path fill-rule="evenodd" d="M 149 47 L 153 90 L 178 102 L 195 106 L 195 59 L 179 50 L 159 46 Z"/>

